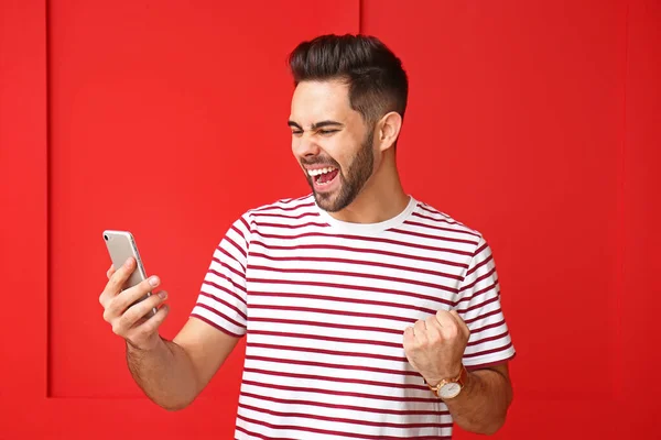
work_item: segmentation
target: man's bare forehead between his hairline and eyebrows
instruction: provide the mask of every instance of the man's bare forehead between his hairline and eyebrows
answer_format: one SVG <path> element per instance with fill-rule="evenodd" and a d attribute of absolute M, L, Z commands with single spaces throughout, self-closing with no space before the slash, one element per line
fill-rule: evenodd
<path fill-rule="evenodd" d="M 346 123 L 356 114 L 349 103 L 349 86 L 342 81 L 302 81 L 294 90 L 290 119 L 305 127 L 324 120 Z"/>

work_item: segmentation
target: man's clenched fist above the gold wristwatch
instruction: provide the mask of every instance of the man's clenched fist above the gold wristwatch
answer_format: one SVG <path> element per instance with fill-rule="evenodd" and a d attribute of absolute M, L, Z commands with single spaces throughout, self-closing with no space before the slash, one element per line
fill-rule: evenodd
<path fill-rule="evenodd" d="M 438 310 L 404 330 L 404 352 L 427 384 L 435 386 L 459 374 L 469 337 L 470 330 L 456 311 Z"/>

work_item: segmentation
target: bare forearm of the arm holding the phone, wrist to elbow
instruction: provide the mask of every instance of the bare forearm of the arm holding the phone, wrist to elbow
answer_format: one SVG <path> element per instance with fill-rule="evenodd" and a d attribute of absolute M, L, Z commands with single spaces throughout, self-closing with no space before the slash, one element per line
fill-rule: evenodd
<path fill-rule="evenodd" d="M 174 342 L 161 339 L 152 350 L 140 350 L 127 343 L 127 363 L 144 394 L 165 409 L 182 409 L 197 396 L 193 363 Z"/>

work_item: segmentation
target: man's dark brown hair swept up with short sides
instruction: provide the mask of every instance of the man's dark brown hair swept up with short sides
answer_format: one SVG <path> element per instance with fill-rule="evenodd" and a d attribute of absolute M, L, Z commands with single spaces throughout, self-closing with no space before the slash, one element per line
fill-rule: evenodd
<path fill-rule="evenodd" d="M 402 119 L 409 80 L 401 61 L 375 36 L 321 35 L 299 44 L 289 56 L 294 85 L 307 80 L 342 80 L 349 86 L 351 109 L 367 123 L 390 111 Z"/>

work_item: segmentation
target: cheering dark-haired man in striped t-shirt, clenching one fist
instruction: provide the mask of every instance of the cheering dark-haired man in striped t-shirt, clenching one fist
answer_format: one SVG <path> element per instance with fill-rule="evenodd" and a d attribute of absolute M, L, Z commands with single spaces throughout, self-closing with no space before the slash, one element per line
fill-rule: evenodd
<path fill-rule="evenodd" d="M 218 245 L 191 318 L 159 336 L 152 276 L 100 296 L 129 369 L 167 409 L 189 405 L 247 336 L 238 439 L 451 438 L 497 431 L 514 355 L 491 251 L 407 195 L 395 165 L 400 61 L 377 38 L 326 35 L 290 56 L 289 127 L 310 196 L 243 213 Z"/>

